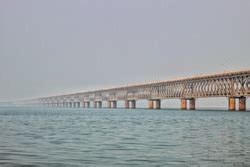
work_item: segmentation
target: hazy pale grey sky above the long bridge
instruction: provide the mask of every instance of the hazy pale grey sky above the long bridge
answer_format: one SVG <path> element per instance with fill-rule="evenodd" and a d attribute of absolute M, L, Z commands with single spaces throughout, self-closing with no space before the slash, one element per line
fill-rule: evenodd
<path fill-rule="evenodd" d="M 0 101 L 248 67 L 249 0 L 0 1 Z"/>

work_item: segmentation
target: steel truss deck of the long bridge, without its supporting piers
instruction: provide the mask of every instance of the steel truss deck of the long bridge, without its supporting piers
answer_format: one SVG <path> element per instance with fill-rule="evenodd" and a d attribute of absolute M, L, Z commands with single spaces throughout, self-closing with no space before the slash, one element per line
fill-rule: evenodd
<path fill-rule="evenodd" d="M 190 100 L 204 97 L 244 98 L 250 95 L 250 70 L 227 71 L 223 73 L 194 75 L 188 78 L 134 84 L 110 89 L 102 89 L 74 94 L 25 100 L 23 104 L 60 104 L 85 102 L 116 102 L 147 99 L 179 98 Z M 231 100 L 232 101 L 232 100 Z M 244 100 L 243 100 L 244 101 Z M 233 103 L 233 102 L 232 102 Z M 244 103 L 244 102 L 242 102 Z M 73 106 L 71 104 L 71 106 Z M 185 104 L 185 102 L 183 102 Z M 96 104 L 94 104 L 97 106 Z M 101 106 L 101 104 L 99 104 Z M 134 104 L 133 104 L 134 105 Z"/>

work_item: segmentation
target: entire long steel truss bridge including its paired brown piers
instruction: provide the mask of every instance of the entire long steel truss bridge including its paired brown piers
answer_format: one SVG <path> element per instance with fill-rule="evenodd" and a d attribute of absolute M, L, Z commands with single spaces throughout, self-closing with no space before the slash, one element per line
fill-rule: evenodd
<path fill-rule="evenodd" d="M 136 84 L 111 89 L 95 90 L 75 94 L 42 97 L 20 101 L 23 106 L 117 108 L 117 101 L 124 101 L 124 108 L 135 109 L 137 100 L 147 100 L 148 109 L 161 109 L 163 99 L 180 99 L 180 108 L 195 110 L 198 98 L 228 98 L 228 110 L 246 110 L 246 99 L 250 95 L 250 70 L 196 75 L 189 78 Z"/>

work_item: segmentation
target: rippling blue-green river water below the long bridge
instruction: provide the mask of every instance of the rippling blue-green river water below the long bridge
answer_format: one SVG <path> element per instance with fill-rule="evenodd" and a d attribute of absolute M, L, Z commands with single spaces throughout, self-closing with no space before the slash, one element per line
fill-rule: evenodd
<path fill-rule="evenodd" d="M 0 166 L 250 166 L 250 112 L 0 108 Z"/>

